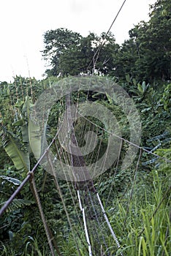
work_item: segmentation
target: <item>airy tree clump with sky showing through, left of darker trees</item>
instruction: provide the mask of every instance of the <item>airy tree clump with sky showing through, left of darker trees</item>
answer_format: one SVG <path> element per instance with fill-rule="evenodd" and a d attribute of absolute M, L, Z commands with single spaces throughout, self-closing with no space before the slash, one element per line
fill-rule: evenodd
<path fill-rule="evenodd" d="M 89 33 L 87 37 L 69 31 L 56 29 L 45 33 L 44 59 L 52 67 L 47 75 L 80 75 L 91 73 L 96 67 L 98 72 L 106 75 L 113 69 L 113 59 L 118 45 L 112 33 L 102 33 L 98 37 Z M 95 54 L 97 53 L 97 54 Z"/>

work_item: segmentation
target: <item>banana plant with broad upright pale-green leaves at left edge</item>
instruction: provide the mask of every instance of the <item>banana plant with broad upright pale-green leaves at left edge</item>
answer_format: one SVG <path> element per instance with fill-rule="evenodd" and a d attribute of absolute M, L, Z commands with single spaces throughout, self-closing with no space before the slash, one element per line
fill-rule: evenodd
<path fill-rule="evenodd" d="M 21 175 L 26 176 L 26 173 L 30 170 L 30 154 L 31 148 L 34 148 L 34 157 L 38 160 L 45 149 L 44 141 L 46 136 L 46 126 L 42 127 L 43 132 L 37 122 L 34 122 L 34 118 L 30 118 L 31 110 L 35 108 L 32 104 L 31 98 L 26 97 L 26 100 L 20 100 L 15 104 L 15 108 L 18 108 L 18 120 L 12 125 L 17 127 L 19 132 L 16 134 L 7 130 L 7 127 L 3 125 L 1 121 L 1 144 L 4 147 L 7 155 L 12 159 L 13 164 L 17 170 L 20 170 Z"/>

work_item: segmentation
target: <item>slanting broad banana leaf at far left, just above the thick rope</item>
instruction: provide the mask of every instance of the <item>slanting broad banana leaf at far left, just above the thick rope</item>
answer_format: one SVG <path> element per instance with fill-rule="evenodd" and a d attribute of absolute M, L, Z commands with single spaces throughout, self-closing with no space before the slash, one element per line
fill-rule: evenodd
<path fill-rule="evenodd" d="M 4 149 L 18 170 L 26 170 L 26 172 L 30 170 L 29 153 L 18 148 L 15 138 L 11 134 L 4 142 Z"/>

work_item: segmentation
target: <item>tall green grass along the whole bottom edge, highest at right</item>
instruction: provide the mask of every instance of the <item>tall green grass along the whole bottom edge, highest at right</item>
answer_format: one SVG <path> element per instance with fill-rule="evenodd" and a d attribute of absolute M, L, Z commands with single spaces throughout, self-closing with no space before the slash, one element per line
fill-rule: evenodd
<path fill-rule="evenodd" d="M 115 198 L 111 192 L 113 199 L 110 200 L 106 212 L 121 248 L 117 249 L 110 233 L 99 230 L 99 235 L 103 233 L 107 249 L 102 248 L 101 245 L 98 256 L 117 256 L 121 255 L 121 252 L 124 256 L 170 256 L 171 211 L 168 187 L 170 187 L 170 169 L 164 165 L 160 170 L 152 170 L 148 174 L 140 172 L 137 176 L 137 183 L 134 184 L 133 194 L 131 186 L 126 189 L 126 193 L 123 192 L 123 195 L 118 193 L 118 197 L 115 196 Z M 129 200 L 131 194 L 132 200 Z M 103 200 L 106 200 L 105 195 Z M 88 223 L 92 230 L 93 222 L 94 220 L 89 220 Z M 83 228 L 77 227 L 77 232 L 75 232 L 77 244 L 75 244 L 72 233 L 64 237 L 58 234 L 58 231 L 56 232 L 56 241 L 61 255 L 88 255 L 88 245 Z M 89 235 L 93 236 L 93 232 Z M 28 237 L 25 241 L 25 249 L 20 255 L 50 255 L 47 244 L 40 246 L 38 240 L 38 238 Z M 91 241 L 94 241 L 94 238 Z M 99 245 L 92 242 L 91 246 L 94 252 L 95 246 Z M 17 253 L 14 246 L 0 244 L 1 256 L 15 256 L 18 255 Z"/>

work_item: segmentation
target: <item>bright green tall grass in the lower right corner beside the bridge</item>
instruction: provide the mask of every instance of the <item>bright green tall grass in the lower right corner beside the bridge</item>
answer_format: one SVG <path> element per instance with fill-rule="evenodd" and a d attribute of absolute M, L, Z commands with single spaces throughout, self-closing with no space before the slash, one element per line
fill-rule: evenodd
<path fill-rule="evenodd" d="M 115 211 L 111 221 L 115 233 L 121 240 L 121 251 L 124 255 L 171 255 L 169 195 L 164 198 L 168 183 L 164 176 L 159 176 L 154 170 L 151 172 L 150 189 L 144 184 L 137 184 L 134 187 L 129 211 L 126 211 L 126 198 L 118 198 L 113 202 Z M 124 222 L 126 225 L 123 225 Z M 116 255 L 119 255 L 119 252 L 120 250 Z"/>

